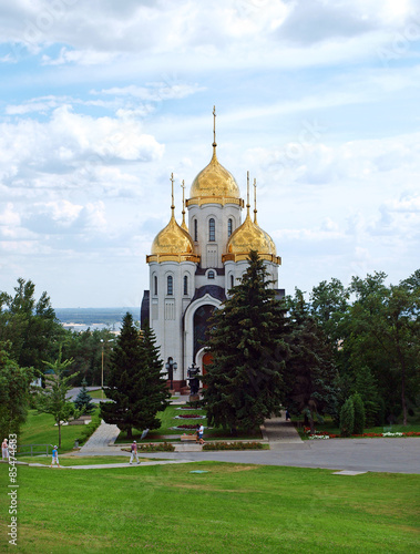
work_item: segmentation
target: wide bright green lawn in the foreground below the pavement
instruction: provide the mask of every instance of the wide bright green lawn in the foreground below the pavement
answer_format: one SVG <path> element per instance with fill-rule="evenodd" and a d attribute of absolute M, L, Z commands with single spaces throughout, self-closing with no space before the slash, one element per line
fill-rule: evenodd
<path fill-rule="evenodd" d="M 208 473 L 192 474 L 192 470 Z M 0 464 L 0 479 L 8 469 Z M 16 552 L 418 552 L 419 475 L 218 462 L 83 472 L 18 468 Z M 9 499 L 0 495 L 6 544 Z"/>

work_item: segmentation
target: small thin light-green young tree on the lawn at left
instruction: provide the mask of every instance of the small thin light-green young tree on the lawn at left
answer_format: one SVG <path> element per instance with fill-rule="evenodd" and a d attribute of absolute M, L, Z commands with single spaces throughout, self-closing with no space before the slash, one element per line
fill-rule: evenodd
<path fill-rule="evenodd" d="M 59 448 L 61 447 L 61 422 L 66 421 L 74 414 L 73 402 L 66 400 L 65 394 L 71 389 L 69 381 L 72 376 L 64 376 L 73 360 L 61 360 L 60 349 L 58 359 L 51 363 L 44 361 L 44 365 L 52 370 L 52 373 L 45 376 L 45 389 L 43 389 L 37 402 L 40 412 L 51 413 L 59 427 Z"/>

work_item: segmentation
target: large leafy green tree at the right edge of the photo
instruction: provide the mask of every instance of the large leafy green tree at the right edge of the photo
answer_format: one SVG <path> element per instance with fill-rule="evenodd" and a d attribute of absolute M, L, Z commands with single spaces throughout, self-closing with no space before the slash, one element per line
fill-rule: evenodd
<path fill-rule="evenodd" d="M 354 278 L 357 299 L 351 307 L 352 335 L 346 348 L 358 365 L 375 368 L 375 377 L 388 400 L 388 410 L 400 397 L 407 424 L 408 397 L 418 390 L 420 355 L 419 270 L 398 286 L 385 286 L 385 274 Z"/>

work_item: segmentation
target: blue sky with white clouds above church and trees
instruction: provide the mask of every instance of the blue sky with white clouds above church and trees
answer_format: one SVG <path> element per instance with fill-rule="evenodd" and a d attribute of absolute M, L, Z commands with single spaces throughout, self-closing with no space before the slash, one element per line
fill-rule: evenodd
<path fill-rule="evenodd" d="M 0 290 L 134 307 L 217 155 L 308 294 L 420 267 L 416 0 L 0 0 Z"/>

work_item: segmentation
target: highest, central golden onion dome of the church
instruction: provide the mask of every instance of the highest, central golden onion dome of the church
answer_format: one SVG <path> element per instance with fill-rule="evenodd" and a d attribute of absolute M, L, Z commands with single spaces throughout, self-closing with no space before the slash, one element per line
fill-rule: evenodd
<path fill-rule="evenodd" d="M 187 206 L 214 203 L 243 205 L 235 177 L 218 162 L 215 144 L 211 163 L 198 173 L 191 185 Z"/>

